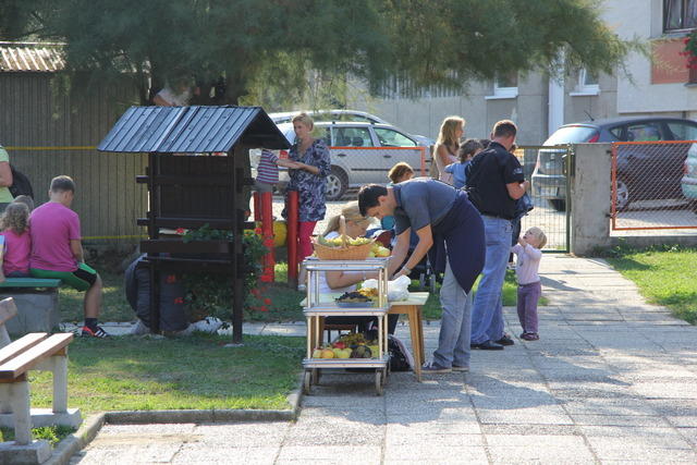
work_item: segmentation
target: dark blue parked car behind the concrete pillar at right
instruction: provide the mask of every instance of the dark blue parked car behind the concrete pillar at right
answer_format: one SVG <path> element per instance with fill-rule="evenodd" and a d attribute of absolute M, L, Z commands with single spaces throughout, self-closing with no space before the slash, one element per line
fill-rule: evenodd
<path fill-rule="evenodd" d="M 640 117 L 614 118 L 565 124 L 557 130 L 537 154 L 533 172 L 535 195 L 549 200 L 558 210 L 566 208 L 565 144 L 694 140 L 697 122 L 680 118 Z M 619 210 L 635 200 L 681 197 L 681 176 L 687 150 L 685 145 L 665 145 L 657 156 L 656 146 L 632 145 L 617 154 Z M 650 173 L 650 175 L 648 175 Z"/>

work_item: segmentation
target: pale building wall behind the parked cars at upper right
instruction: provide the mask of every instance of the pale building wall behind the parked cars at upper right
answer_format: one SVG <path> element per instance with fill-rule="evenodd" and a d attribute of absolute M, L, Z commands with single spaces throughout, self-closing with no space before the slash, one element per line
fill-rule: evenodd
<path fill-rule="evenodd" d="M 603 20 L 622 38 L 646 40 L 651 47 L 664 38 L 662 14 L 662 0 L 604 0 L 601 9 Z M 597 95 L 575 95 L 579 90 L 577 73 L 564 76 L 564 123 L 647 114 L 697 120 L 697 86 L 687 86 L 684 79 L 652 83 L 657 81 L 652 77 L 656 60 L 632 53 L 626 62 L 627 73 L 617 70 L 614 75 L 599 76 Z M 371 99 L 360 93 L 358 97 L 348 96 L 347 102 L 350 108 L 376 113 L 407 132 L 432 138 L 438 135 L 442 119 L 450 114 L 467 120 L 466 137 L 487 137 L 496 121 L 508 118 L 518 124 L 521 145 L 538 145 L 550 132 L 549 83 L 546 75 L 538 73 L 519 76 L 518 96 L 509 99 L 487 99 L 493 94 L 493 84 L 470 83 L 464 95 L 452 97 L 412 101 Z"/>

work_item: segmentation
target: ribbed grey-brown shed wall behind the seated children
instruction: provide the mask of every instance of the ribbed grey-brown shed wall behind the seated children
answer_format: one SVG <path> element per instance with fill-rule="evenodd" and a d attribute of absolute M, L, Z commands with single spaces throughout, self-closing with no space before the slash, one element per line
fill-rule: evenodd
<path fill-rule="evenodd" d="M 0 143 L 11 162 L 32 181 L 35 200 L 48 200 L 50 180 L 68 174 L 77 184 L 73 208 L 86 242 L 134 242 L 142 234 L 135 220 L 147 211 L 147 192 L 135 183 L 145 174 L 142 154 L 101 154 L 94 147 L 107 135 L 132 100 L 125 88 L 110 87 L 94 96 L 70 98 L 53 93 L 49 73 L 0 73 Z M 124 107 L 125 108 L 125 107 Z M 41 149 L 23 149 L 41 147 Z M 120 238 L 119 238 L 120 237 Z"/>

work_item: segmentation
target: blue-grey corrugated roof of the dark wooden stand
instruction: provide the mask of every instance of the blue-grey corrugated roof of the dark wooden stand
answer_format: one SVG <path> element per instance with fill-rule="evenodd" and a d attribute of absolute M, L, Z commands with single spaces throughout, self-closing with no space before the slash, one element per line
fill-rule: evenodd
<path fill-rule="evenodd" d="M 259 148 L 290 146 L 260 107 L 131 107 L 97 149 L 198 154 L 229 151 L 237 142 Z"/>

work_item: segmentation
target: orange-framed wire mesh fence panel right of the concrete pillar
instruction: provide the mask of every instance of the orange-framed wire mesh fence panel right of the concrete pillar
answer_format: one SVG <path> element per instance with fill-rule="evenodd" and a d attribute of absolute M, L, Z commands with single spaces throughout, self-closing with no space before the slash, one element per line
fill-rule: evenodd
<path fill-rule="evenodd" d="M 612 144 L 615 231 L 697 229 L 697 142 Z"/>

